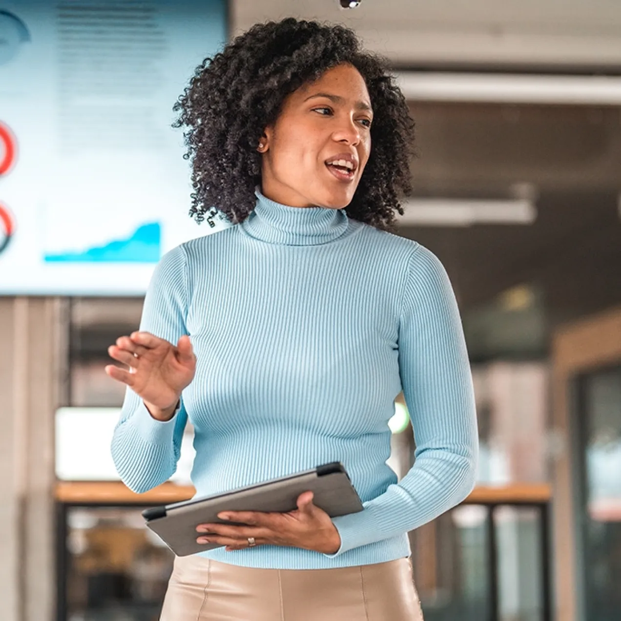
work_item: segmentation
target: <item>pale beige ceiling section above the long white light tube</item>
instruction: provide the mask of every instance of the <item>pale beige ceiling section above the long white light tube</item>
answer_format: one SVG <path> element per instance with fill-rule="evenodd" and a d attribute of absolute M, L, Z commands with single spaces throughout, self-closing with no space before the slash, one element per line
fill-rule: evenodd
<path fill-rule="evenodd" d="M 343 22 L 365 45 L 409 68 L 621 70 L 615 0 L 231 0 L 231 32 L 287 16 Z"/>

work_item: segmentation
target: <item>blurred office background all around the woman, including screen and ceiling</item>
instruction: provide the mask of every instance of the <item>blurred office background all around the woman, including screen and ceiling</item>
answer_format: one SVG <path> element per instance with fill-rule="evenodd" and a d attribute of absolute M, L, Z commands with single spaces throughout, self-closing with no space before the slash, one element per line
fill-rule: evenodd
<path fill-rule="evenodd" d="M 152 621 L 171 553 L 109 438 L 107 346 L 201 227 L 171 106 L 256 21 L 341 21 L 417 123 L 399 233 L 443 261 L 478 486 L 410 533 L 428 621 L 621 619 L 621 5 L 609 0 L 0 0 L 0 597 L 6 621 Z M 414 437 L 400 396 L 390 464 Z"/>

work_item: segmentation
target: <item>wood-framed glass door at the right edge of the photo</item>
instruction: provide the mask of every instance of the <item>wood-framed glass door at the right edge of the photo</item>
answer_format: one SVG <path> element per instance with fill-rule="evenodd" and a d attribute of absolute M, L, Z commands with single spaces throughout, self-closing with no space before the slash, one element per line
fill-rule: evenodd
<path fill-rule="evenodd" d="M 558 621 L 621 619 L 621 308 L 553 340 Z"/>

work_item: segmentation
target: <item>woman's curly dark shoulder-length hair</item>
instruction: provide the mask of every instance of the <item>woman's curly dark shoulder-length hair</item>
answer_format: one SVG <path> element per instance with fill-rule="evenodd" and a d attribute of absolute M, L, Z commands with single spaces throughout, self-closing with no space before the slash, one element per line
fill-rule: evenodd
<path fill-rule="evenodd" d="M 371 105 L 371 152 L 347 215 L 394 232 L 399 197 L 410 193 L 414 120 L 388 62 L 361 49 L 353 30 L 292 17 L 255 24 L 196 68 L 173 127 L 184 132 L 192 164 L 190 215 L 202 222 L 221 212 L 242 222 L 255 207 L 261 180 L 259 138 L 277 119 L 284 99 L 342 63 L 366 83 Z"/>

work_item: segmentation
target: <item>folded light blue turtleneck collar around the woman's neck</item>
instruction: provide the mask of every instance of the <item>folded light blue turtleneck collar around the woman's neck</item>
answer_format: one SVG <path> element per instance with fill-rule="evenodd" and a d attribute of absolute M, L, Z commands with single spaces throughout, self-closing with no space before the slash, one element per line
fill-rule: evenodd
<path fill-rule="evenodd" d="M 348 229 L 345 209 L 291 207 L 272 201 L 255 189 L 255 209 L 240 227 L 263 242 L 312 246 L 332 242 Z"/>

